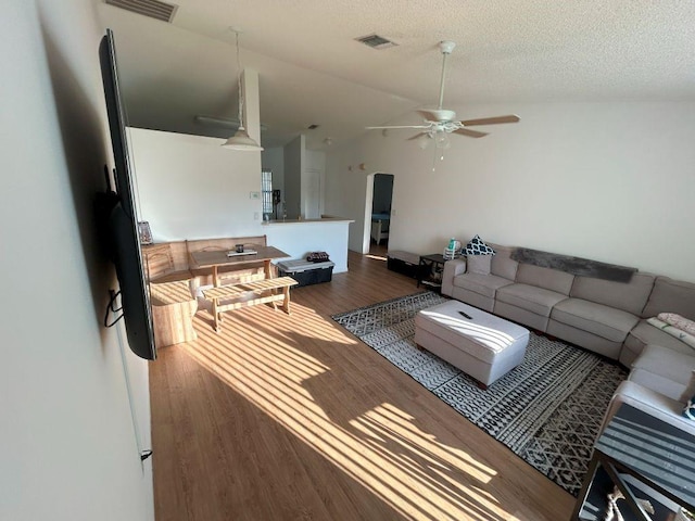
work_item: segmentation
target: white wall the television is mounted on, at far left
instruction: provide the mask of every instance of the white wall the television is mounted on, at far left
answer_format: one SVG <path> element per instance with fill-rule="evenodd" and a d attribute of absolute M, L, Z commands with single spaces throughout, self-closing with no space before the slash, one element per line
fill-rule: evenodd
<path fill-rule="evenodd" d="M 0 519 L 151 520 L 147 363 L 101 326 L 113 268 L 92 199 L 109 151 L 93 2 L 3 2 L 0 18 Z"/>

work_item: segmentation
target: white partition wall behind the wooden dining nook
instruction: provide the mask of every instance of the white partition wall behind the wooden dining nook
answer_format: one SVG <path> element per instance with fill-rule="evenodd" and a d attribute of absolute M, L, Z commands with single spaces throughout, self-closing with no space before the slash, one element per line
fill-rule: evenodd
<path fill-rule="evenodd" d="M 141 214 L 155 241 L 255 236 L 263 204 L 261 154 L 224 140 L 130 128 Z"/>

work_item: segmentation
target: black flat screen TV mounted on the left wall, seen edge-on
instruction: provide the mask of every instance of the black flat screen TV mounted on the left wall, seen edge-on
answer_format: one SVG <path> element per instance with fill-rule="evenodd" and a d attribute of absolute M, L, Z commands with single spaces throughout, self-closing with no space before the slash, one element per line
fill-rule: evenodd
<path fill-rule="evenodd" d="M 106 98 L 116 183 L 116 193 L 110 199 L 103 229 L 108 236 L 108 250 L 116 267 L 121 287 L 121 304 L 128 344 L 136 355 L 153 360 L 156 357 L 156 347 L 150 291 L 144 277 L 138 233 L 135 171 L 128 155 L 126 113 L 118 88 L 116 50 L 111 29 L 106 29 L 106 35 L 99 46 L 99 62 Z"/>

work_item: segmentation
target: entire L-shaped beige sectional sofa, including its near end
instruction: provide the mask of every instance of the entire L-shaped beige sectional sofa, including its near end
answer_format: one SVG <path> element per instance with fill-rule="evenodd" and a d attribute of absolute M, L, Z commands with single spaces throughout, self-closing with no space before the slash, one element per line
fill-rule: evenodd
<path fill-rule="evenodd" d="M 636 270 L 627 281 L 605 280 L 519 262 L 522 249 L 489 245 L 495 255 L 486 265 L 478 256 L 445 263 L 443 294 L 633 367 L 607 418 L 630 403 L 695 425 L 681 416 L 695 383 L 695 347 L 648 321 L 661 313 L 695 320 L 694 283 Z"/>

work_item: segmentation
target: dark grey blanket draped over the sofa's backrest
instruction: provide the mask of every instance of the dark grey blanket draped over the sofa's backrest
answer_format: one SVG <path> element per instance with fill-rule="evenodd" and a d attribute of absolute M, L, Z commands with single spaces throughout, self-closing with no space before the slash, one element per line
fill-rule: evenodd
<path fill-rule="evenodd" d="M 517 263 L 532 264 L 542 268 L 553 268 L 572 275 L 594 277 L 596 279 L 612 280 L 615 282 L 630 282 L 632 274 L 637 268 L 628 268 L 615 264 L 599 263 L 589 258 L 559 255 L 557 253 L 541 252 L 528 247 L 517 247 L 510 257 Z"/>

